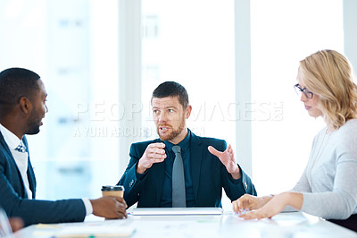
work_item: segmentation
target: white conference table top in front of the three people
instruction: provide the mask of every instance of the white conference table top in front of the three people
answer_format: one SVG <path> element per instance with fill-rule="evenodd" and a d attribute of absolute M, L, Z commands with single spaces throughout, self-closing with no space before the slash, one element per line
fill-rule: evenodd
<path fill-rule="evenodd" d="M 79 233 L 80 231 L 80 233 Z M 111 231 L 111 234 L 102 234 Z M 30 225 L 15 234 L 30 237 L 357 237 L 357 233 L 303 212 L 280 213 L 271 219 L 244 220 L 232 211 L 222 215 L 133 216 L 118 220 Z"/>

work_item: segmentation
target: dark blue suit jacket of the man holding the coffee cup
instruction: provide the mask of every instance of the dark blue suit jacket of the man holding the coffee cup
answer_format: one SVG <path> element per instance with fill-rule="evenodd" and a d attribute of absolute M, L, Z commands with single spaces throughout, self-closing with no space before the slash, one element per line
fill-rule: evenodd
<path fill-rule="evenodd" d="M 29 153 L 26 137 L 22 141 Z M 30 161 L 28 177 L 33 200 L 27 199 L 20 171 L 0 132 L 0 207 L 4 208 L 7 216 L 21 217 L 25 226 L 84 220 L 86 208 L 82 200 L 35 200 L 36 179 Z"/>

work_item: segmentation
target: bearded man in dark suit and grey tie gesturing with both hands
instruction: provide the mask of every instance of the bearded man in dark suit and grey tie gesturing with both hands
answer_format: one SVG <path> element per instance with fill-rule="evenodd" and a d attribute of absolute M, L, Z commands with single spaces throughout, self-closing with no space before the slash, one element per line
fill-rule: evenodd
<path fill-rule="evenodd" d="M 129 165 L 118 183 L 125 187 L 129 207 L 136 202 L 138 208 L 221 207 L 222 188 L 230 200 L 245 193 L 256 195 L 225 140 L 199 137 L 187 128 L 192 106 L 182 85 L 163 82 L 154 89 L 151 103 L 160 139 L 131 145 Z M 180 194 L 174 185 L 175 146 L 181 150 L 184 169 L 182 206 L 175 205 Z"/>

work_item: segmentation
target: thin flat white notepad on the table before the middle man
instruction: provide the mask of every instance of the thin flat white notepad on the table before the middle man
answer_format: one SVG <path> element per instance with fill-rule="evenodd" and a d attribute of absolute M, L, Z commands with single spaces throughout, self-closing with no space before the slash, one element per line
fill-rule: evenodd
<path fill-rule="evenodd" d="M 222 215 L 222 208 L 133 208 L 133 216 Z"/>

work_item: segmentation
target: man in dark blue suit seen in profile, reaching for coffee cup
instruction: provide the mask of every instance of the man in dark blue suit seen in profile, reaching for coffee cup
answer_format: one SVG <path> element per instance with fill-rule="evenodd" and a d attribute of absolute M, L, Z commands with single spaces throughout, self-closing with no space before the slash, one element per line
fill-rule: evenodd
<path fill-rule="evenodd" d="M 0 207 L 24 225 L 83 221 L 88 214 L 127 217 L 121 198 L 35 200 L 36 178 L 25 134 L 37 134 L 47 113 L 46 89 L 35 72 L 0 72 Z"/>

